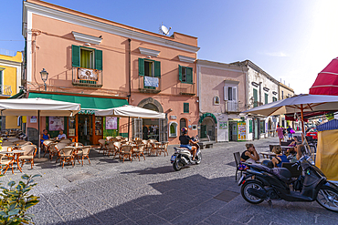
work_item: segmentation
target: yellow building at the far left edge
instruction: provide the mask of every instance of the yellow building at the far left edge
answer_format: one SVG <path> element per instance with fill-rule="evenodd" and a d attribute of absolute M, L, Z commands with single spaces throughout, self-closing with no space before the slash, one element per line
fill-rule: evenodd
<path fill-rule="evenodd" d="M 0 99 L 20 92 L 22 53 L 0 49 Z M 1 117 L 1 128 L 20 128 L 17 117 Z"/>

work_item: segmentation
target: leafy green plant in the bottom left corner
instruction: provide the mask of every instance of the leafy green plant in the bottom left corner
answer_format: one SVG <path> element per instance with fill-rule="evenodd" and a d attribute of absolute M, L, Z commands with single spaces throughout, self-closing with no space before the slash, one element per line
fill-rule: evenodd
<path fill-rule="evenodd" d="M 4 175 L 0 175 L 3 177 Z M 34 215 L 26 213 L 26 211 L 37 205 L 39 198 L 34 195 L 29 195 L 28 192 L 37 183 L 34 178 L 41 177 L 41 175 L 26 175 L 21 176 L 24 181 L 19 181 L 16 185 L 15 181 L 8 182 L 8 188 L 0 187 L 0 224 L 15 225 L 15 224 L 29 224 L 33 223 Z M 2 183 L 0 183 L 2 186 Z M 16 185 L 16 186 L 15 186 Z"/>

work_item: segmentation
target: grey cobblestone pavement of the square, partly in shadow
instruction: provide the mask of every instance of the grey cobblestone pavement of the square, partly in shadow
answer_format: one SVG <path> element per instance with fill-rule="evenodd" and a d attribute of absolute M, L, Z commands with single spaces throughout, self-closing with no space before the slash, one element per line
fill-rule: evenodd
<path fill-rule="evenodd" d="M 277 138 L 255 140 L 258 151 Z M 334 224 L 338 213 L 316 202 L 274 201 L 251 205 L 239 194 L 233 152 L 246 142 L 230 142 L 203 150 L 200 165 L 175 172 L 169 157 L 120 162 L 90 152 L 82 167 L 62 169 L 55 160 L 24 166 L 41 174 L 33 190 L 41 201 L 30 212 L 37 224 Z M 21 173 L 7 171 L 5 181 Z M 215 197 L 223 195 L 223 200 Z"/>

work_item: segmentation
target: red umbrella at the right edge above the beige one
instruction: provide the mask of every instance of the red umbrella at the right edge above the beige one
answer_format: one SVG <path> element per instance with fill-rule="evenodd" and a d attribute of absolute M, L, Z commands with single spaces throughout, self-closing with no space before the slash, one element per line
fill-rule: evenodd
<path fill-rule="evenodd" d="M 338 57 L 318 74 L 309 94 L 338 96 Z"/>

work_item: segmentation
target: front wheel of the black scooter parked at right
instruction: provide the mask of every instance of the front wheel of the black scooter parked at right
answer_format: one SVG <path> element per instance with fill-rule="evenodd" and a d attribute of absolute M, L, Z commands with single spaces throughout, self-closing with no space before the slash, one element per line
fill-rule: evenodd
<path fill-rule="evenodd" d="M 316 201 L 326 210 L 338 212 L 338 190 L 323 185 L 318 191 Z"/>

